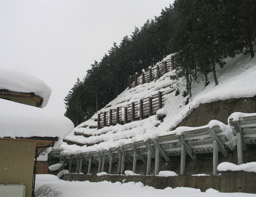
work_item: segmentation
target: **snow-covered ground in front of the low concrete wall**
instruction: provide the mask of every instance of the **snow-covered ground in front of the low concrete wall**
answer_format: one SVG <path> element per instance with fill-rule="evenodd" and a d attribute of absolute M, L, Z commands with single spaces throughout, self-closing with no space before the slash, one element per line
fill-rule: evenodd
<path fill-rule="evenodd" d="M 63 181 L 49 175 L 37 174 L 36 191 L 39 197 L 256 197 L 256 194 L 220 193 L 212 188 L 205 192 L 189 187 L 167 187 L 160 190 L 145 186 L 141 182 Z"/>

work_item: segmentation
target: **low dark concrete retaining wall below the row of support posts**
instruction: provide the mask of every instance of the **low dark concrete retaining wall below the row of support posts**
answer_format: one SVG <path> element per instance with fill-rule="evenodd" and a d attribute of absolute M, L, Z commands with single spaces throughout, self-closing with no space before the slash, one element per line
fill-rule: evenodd
<path fill-rule="evenodd" d="M 175 176 L 158 177 L 150 175 L 125 176 L 125 175 L 103 175 L 96 174 L 66 174 L 63 177 L 65 181 L 117 181 L 128 183 L 131 181 L 141 182 L 144 185 L 164 189 L 166 187 L 192 187 L 200 189 L 202 192 L 209 188 L 219 190 L 220 192 L 243 192 L 256 194 L 256 173 L 244 171 L 226 171 L 220 176 Z"/>

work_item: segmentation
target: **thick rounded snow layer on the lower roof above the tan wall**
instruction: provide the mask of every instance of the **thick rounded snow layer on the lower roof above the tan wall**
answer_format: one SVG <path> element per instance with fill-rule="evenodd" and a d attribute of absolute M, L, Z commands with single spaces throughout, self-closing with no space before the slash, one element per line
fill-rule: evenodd
<path fill-rule="evenodd" d="M 0 138 L 58 137 L 63 139 L 73 129 L 65 116 L 42 108 L 0 99 Z"/>

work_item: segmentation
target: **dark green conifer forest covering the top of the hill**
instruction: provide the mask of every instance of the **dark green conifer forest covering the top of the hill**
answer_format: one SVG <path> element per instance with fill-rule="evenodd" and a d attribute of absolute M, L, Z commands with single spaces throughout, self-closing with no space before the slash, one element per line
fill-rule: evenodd
<path fill-rule="evenodd" d="M 84 79 L 77 79 L 65 97 L 65 116 L 77 126 L 128 87 L 128 76 L 154 66 L 173 54 L 177 77 L 191 95 L 193 80 L 204 80 L 225 66 L 226 57 L 254 56 L 256 0 L 175 0 L 160 16 L 135 27 L 114 43 L 100 62 L 94 61 Z M 204 78 L 198 79 L 198 73 Z"/>

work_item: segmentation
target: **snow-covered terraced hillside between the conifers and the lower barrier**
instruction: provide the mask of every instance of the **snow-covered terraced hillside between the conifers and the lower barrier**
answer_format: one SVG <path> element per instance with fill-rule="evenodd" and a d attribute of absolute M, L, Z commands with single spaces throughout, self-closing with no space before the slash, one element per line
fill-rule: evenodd
<path fill-rule="evenodd" d="M 131 89 L 126 89 L 116 99 L 111 101 L 105 108 L 98 113 L 109 111 L 117 107 L 127 106 L 131 102 L 139 101 L 150 95 L 163 92 L 164 107 L 157 111 L 157 115 L 141 121 L 132 121 L 125 125 L 105 126 L 98 129 L 98 113 L 88 121 L 78 125 L 65 139 L 80 144 L 94 144 L 68 146 L 66 143 L 61 148 L 65 151 L 83 152 L 83 151 L 101 151 L 111 147 L 118 147 L 121 144 L 134 143 L 135 141 L 148 140 L 164 133 L 174 133 L 179 129 L 172 131 L 179 122 L 182 121 L 193 108 L 201 103 L 209 103 L 217 100 L 231 98 L 253 97 L 256 95 L 256 59 L 250 59 L 249 55 L 237 55 L 234 59 L 225 59 L 226 65 L 220 69 L 217 67 L 217 78 L 219 85 L 215 86 L 212 73 L 209 74 L 209 85 L 205 87 L 203 76 L 199 75 L 198 80 L 192 83 L 192 98 L 182 96 L 185 90 L 185 79 L 174 79 L 175 70 L 166 73 L 160 79 L 143 85 L 138 85 Z M 179 90 L 180 94 L 175 95 Z M 189 98 L 189 103 L 185 101 Z M 158 120 L 158 115 L 165 115 L 163 121 Z M 225 122 L 224 124 L 227 124 Z M 222 124 L 223 125 L 223 124 Z M 90 137 L 74 135 L 81 133 Z"/>

